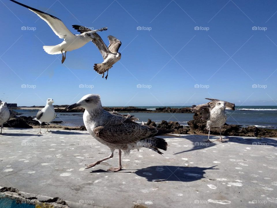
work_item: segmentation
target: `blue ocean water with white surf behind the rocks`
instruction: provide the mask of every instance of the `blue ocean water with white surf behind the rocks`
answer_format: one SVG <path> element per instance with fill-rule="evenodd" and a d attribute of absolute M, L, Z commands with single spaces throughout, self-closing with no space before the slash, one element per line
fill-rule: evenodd
<path fill-rule="evenodd" d="M 155 110 L 163 106 L 137 106 Z M 169 106 L 171 108 L 189 107 L 189 106 Z M 21 110 L 16 112 L 23 113 L 23 116 L 35 116 L 38 110 Z M 226 110 L 227 124 L 238 124 L 244 127 L 256 125 L 257 127 L 277 129 L 277 106 L 239 106 L 235 111 Z M 127 113 L 122 113 L 127 114 Z M 147 122 L 148 118 L 156 123 L 162 120 L 177 121 L 180 125 L 188 125 L 192 120 L 193 113 L 130 113 L 139 118 L 138 122 Z M 65 126 L 80 126 L 83 123 L 83 113 L 57 113 L 55 120 L 62 120 Z"/>

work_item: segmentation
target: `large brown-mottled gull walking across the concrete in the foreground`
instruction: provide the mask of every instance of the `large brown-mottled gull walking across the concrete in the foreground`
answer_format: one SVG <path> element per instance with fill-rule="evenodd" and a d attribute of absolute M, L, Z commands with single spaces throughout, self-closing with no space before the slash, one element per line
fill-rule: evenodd
<path fill-rule="evenodd" d="M 111 155 L 86 165 L 86 168 L 91 168 L 100 164 L 100 162 L 113 157 L 115 149 L 119 150 L 119 167 L 109 168 L 108 170 L 117 172 L 121 170 L 121 150 L 126 155 L 132 149 L 146 147 L 162 154 L 158 148 L 167 149 L 167 142 L 162 138 L 156 138 L 158 135 L 170 133 L 170 130 L 156 129 L 152 126 L 139 125 L 134 122 L 137 120 L 129 114 L 122 116 L 116 112 L 110 113 L 102 108 L 100 96 L 96 94 L 85 95 L 77 103 L 68 106 L 68 110 L 75 107 L 85 108 L 83 120 L 87 131 L 98 142 L 108 146 L 111 150 Z"/>

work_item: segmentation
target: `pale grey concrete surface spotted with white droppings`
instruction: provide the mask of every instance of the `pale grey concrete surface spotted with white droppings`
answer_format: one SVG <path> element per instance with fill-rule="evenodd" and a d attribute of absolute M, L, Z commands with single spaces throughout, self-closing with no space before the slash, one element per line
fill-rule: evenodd
<path fill-rule="evenodd" d="M 224 137 L 220 143 L 215 136 L 204 143 L 207 136 L 166 135 L 164 156 L 133 150 L 122 157 L 122 171 L 110 172 L 118 151 L 85 169 L 110 154 L 87 131 L 38 131 L 3 129 L 0 188 L 38 200 L 59 197 L 78 208 L 277 207 L 276 138 Z"/>

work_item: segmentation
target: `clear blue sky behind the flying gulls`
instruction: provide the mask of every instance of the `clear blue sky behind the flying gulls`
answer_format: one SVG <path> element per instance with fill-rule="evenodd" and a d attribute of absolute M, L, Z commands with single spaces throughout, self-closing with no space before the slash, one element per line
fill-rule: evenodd
<path fill-rule="evenodd" d="M 2 101 L 71 104 L 94 93 L 103 106 L 192 105 L 205 97 L 277 105 L 276 1 L 20 2 L 57 16 L 74 34 L 74 24 L 108 27 L 99 35 L 106 44 L 108 35 L 121 40 L 121 60 L 102 79 L 93 70 L 102 56 L 90 42 L 61 64 L 42 47 L 62 39 L 33 12 L 1 0 Z"/>

